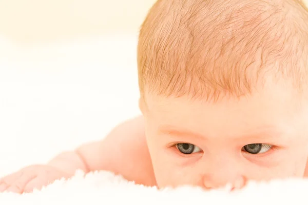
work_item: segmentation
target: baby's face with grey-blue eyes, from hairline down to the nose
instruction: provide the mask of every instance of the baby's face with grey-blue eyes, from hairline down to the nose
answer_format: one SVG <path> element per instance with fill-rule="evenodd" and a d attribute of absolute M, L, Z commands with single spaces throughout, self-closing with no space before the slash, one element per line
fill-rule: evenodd
<path fill-rule="evenodd" d="M 273 84 L 217 103 L 146 95 L 141 110 L 158 186 L 240 188 L 246 180 L 302 177 L 308 113 L 292 93 Z"/>

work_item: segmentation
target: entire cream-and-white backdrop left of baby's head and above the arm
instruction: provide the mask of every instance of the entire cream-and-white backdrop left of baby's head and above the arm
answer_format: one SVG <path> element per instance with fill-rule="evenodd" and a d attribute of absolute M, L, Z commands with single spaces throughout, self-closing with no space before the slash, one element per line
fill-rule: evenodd
<path fill-rule="evenodd" d="M 154 2 L 0 1 L 0 176 L 140 114 L 137 36 Z"/>

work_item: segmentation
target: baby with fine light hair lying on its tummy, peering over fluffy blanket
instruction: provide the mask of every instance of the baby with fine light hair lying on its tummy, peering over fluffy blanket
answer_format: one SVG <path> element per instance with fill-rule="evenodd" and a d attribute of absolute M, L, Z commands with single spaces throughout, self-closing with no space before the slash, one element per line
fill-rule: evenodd
<path fill-rule="evenodd" d="M 297 0 L 159 0 L 139 36 L 142 116 L 5 176 L 0 192 L 31 192 L 77 169 L 159 188 L 304 177 L 307 56 Z"/>

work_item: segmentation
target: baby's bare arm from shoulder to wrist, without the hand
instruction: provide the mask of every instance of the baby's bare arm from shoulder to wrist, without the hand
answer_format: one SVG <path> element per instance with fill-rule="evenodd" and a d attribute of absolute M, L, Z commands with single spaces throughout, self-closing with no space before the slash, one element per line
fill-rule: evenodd
<path fill-rule="evenodd" d="M 101 141 L 82 145 L 72 152 L 61 153 L 48 165 L 70 175 L 77 169 L 86 173 L 107 170 L 136 183 L 156 185 L 142 116 L 123 122 Z"/>

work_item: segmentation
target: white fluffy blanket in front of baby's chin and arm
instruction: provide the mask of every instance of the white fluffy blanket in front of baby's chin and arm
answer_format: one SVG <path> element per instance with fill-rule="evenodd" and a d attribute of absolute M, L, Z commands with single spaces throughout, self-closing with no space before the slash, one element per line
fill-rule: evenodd
<path fill-rule="evenodd" d="M 268 183 L 249 182 L 239 191 L 202 191 L 181 187 L 158 190 L 128 182 L 110 172 L 84 176 L 76 172 L 70 180 L 58 180 L 41 191 L 30 194 L 0 194 L 0 204 L 307 204 L 308 180 L 273 180 Z"/>

